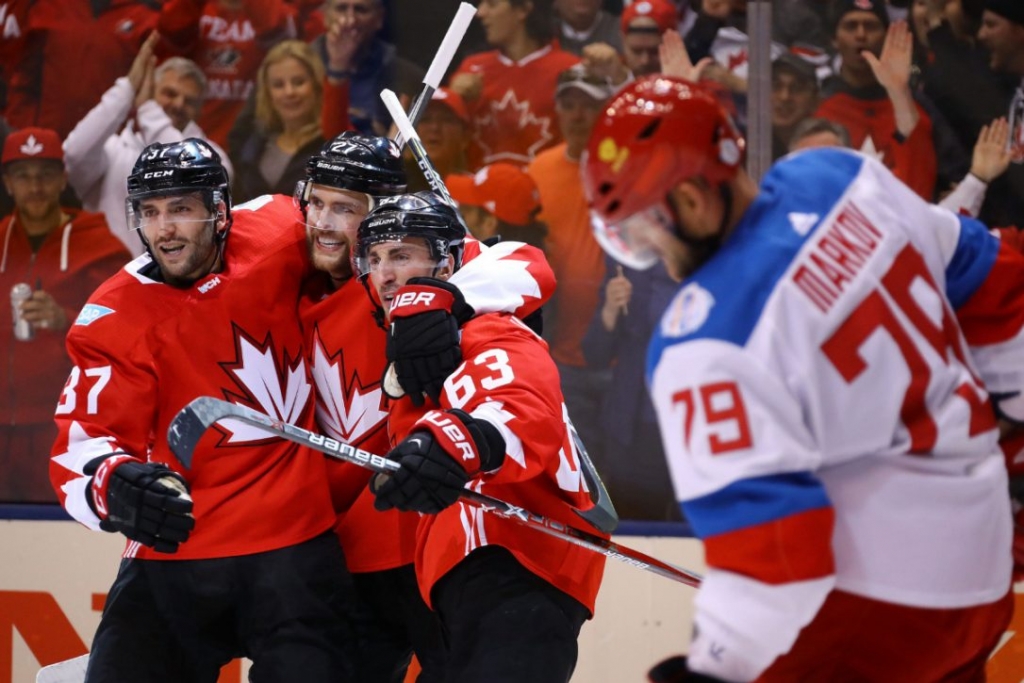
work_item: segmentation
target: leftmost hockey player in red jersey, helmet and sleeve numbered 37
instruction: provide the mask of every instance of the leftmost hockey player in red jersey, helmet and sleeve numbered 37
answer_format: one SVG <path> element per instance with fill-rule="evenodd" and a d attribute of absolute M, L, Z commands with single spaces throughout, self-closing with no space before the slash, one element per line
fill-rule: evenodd
<path fill-rule="evenodd" d="M 184 472 L 165 436 L 199 396 L 313 426 L 292 202 L 232 210 L 217 154 L 189 138 L 143 151 L 127 212 L 148 255 L 72 326 L 50 463 L 69 514 L 128 539 L 86 680 L 211 682 L 239 656 L 254 680 L 351 680 L 324 459 L 225 423 Z"/>

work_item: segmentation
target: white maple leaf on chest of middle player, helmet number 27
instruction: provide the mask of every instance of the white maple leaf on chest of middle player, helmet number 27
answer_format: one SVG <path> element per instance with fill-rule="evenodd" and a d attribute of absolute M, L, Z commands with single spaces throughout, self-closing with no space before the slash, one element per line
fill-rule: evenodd
<path fill-rule="evenodd" d="M 319 331 L 313 333 L 313 383 L 316 385 L 316 423 L 332 438 L 358 443 L 387 419 L 379 381 L 369 387 L 345 372 L 343 351 L 328 353 Z M 375 386 L 376 385 L 376 386 Z"/>

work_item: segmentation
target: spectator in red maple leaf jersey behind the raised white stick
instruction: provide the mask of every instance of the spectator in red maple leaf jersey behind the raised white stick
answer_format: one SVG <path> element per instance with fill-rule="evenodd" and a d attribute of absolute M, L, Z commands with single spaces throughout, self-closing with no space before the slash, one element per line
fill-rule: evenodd
<path fill-rule="evenodd" d="M 476 15 L 495 49 L 466 57 L 450 83 L 470 108 L 469 166 L 525 166 L 561 141 L 555 81 L 580 57 L 552 41 L 551 0 L 480 0 Z"/>

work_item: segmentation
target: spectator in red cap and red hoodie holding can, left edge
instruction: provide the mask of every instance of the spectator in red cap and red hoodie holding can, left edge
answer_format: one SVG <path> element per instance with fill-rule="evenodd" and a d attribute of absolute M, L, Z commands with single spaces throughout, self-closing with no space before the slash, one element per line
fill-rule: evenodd
<path fill-rule="evenodd" d="M 0 218 L 0 290 L 8 309 L 0 334 L 0 502 L 53 503 L 43 454 L 56 438 L 53 407 L 71 373 L 68 329 L 92 291 L 130 257 L 101 214 L 60 206 L 68 184 L 56 132 L 26 128 L 7 136 L 0 157 L 14 212 Z M 14 338 L 10 299 L 16 284 L 32 288 L 19 313 L 33 338 Z M 79 321 L 86 324 L 84 321 Z"/>

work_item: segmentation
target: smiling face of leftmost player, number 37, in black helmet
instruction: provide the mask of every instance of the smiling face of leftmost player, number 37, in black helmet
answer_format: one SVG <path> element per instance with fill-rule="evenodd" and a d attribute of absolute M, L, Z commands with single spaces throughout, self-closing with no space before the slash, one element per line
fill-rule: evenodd
<path fill-rule="evenodd" d="M 139 229 L 167 284 L 187 287 L 214 270 L 222 227 L 199 193 L 139 202 Z"/>

